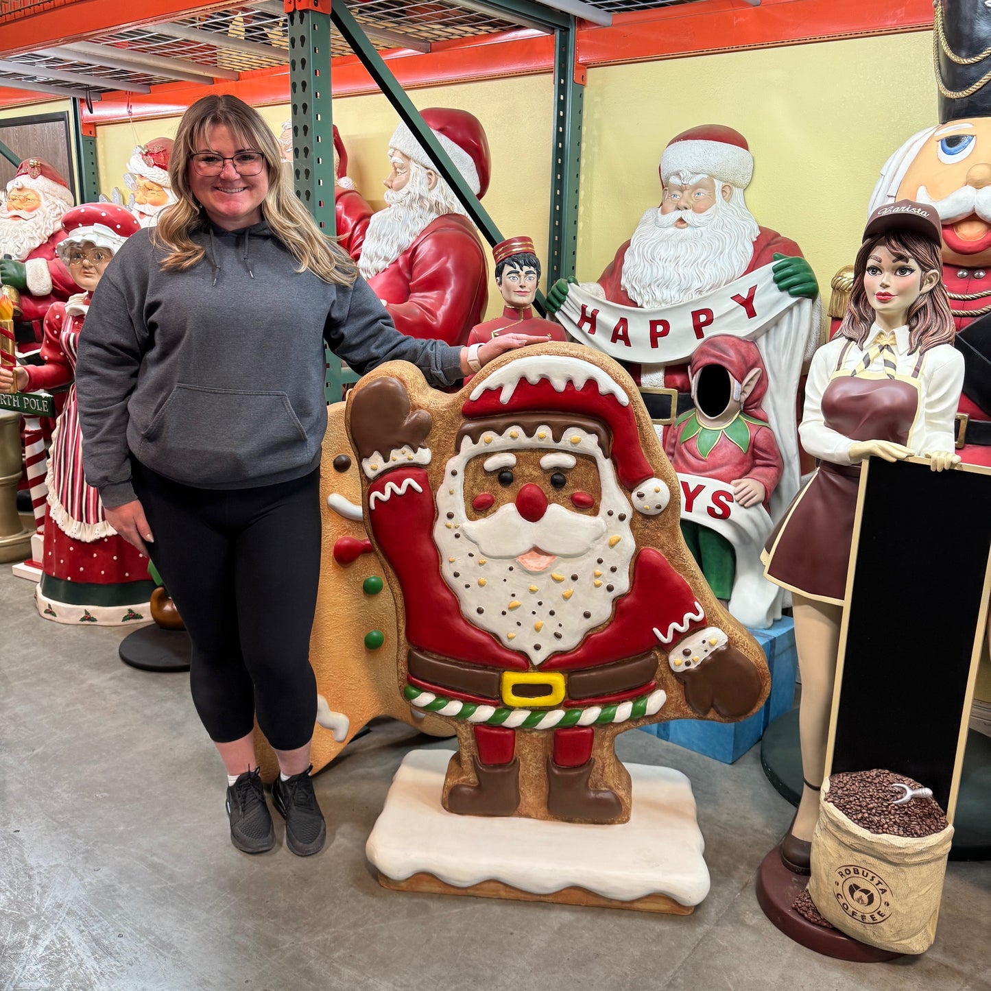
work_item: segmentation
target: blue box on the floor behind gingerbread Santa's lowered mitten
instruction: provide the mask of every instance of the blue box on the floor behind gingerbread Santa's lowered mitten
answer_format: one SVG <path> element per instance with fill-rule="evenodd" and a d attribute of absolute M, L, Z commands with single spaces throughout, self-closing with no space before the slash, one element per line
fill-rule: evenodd
<path fill-rule="evenodd" d="M 763 735 L 769 722 L 792 708 L 798 671 L 795 622 L 791 616 L 782 616 L 770 629 L 752 629 L 749 632 L 767 655 L 767 666 L 771 672 L 771 692 L 759 712 L 741 722 L 675 719 L 642 728 L 662 740 L 670 740 L 696 753 L 715 757 L 724 764 L 731 764 L 746 753 Z"/>

